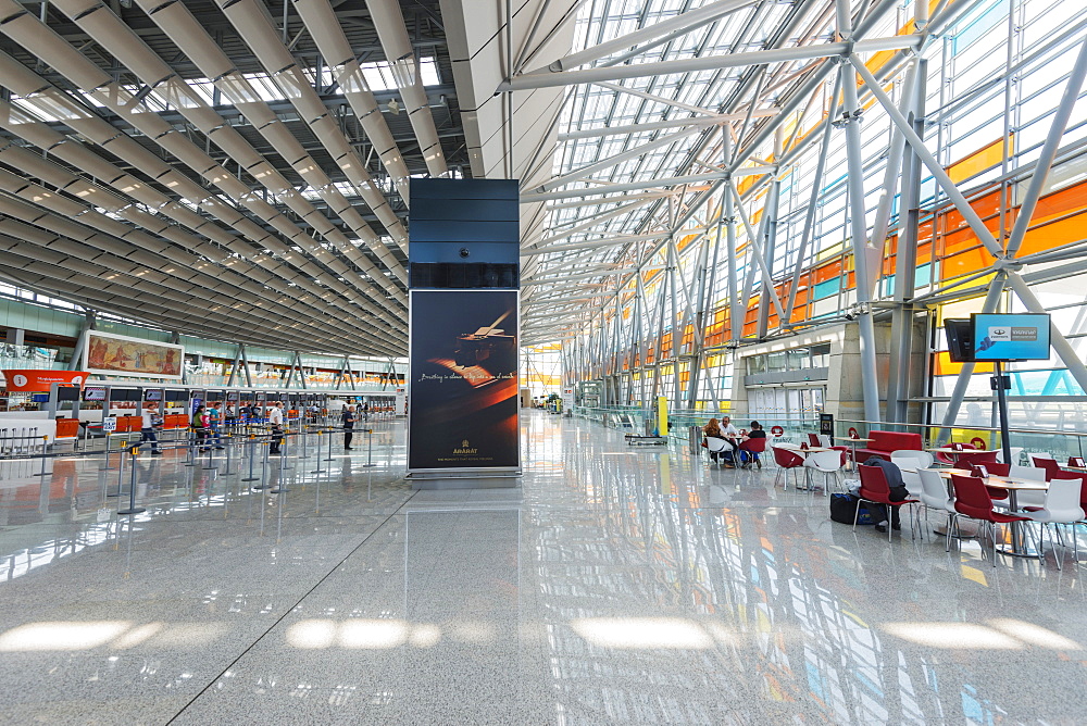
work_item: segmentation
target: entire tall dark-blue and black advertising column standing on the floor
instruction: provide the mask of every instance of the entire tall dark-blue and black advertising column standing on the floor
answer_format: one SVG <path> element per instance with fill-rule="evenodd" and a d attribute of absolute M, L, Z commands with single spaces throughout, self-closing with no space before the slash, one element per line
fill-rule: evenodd
<path fill-rule="evenodd" d="M 408 479 L 521 476 L 520 199 L 509 179 L 412 179 Z"/>

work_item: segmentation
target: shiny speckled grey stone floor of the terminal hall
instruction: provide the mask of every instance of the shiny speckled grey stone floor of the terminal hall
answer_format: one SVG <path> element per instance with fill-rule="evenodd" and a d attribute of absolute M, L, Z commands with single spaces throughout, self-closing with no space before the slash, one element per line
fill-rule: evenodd
<path fill-rule="evenodd" d="M 100 458 L 9 462 L 0 723 L 1087 722 L 1071 552 L 992 567 L 853 534 L 772 467 L 538 411 L 523 434 L 504 490 L 412 492 L 400 422 L 371 467 L 365 436 L 273 460 L 277 495 L 233 450 L 145 456 L 135 516 Z"/>

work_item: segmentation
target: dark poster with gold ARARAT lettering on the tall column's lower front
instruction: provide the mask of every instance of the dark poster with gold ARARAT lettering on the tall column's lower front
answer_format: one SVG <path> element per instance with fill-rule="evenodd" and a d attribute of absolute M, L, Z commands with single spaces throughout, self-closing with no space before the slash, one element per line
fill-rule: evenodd
<path fill-rule="evenodd" d="M 516 290 L 413 290 L 409 470 L 520 466 Z"/>

